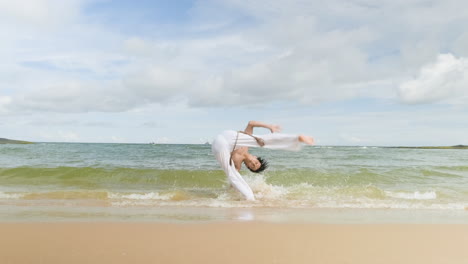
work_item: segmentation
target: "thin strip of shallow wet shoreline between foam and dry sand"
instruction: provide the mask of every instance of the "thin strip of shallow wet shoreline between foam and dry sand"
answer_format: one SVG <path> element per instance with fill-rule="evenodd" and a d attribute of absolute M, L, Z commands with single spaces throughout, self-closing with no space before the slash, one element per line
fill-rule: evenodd
<path fill-rule="evenodd" d="M 356 208 L 216 208 L 14 206 L 0 204 L 2 223 L 220 223 L 277 224 L 465 224 L 465 210 Z"/>

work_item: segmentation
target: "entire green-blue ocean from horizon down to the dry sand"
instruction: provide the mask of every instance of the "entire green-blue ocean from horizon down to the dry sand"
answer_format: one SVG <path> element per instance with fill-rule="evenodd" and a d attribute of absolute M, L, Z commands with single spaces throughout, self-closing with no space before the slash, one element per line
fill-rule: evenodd
<path fill-rule="evenodd" d="M 468 222 L 468 150 L 251 152 L 270 163 L 241 170 L 256 201 L 229 186 L 210 145 L 0 145 L 0 221 Z"/>

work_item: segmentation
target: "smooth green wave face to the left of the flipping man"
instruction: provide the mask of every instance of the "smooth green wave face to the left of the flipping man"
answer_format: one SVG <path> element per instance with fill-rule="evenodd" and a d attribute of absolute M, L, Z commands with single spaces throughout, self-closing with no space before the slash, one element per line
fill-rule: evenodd
<path fill-rule="evenodd" d="M 159 170 L 135 168 L 3 168 L 0 186 L 60 186 L 82 189 L 148 189 L 222 187 L 222 171 Z"/>

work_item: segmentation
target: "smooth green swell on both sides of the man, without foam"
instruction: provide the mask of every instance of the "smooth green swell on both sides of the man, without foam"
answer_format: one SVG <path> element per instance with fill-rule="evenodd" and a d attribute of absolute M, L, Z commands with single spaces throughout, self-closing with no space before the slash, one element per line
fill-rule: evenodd
<path fill-rule="evenodd" d="M 467 166 L 380 167 L 334 166 L 316 168 L 276 166 L 264 173 L 265 181 L 276 186 L 307 183 L 315 186 L 437 185 L 440 181 L 461 182 L 468 177 Z M 135 167 L 16 167 L 0 168 L 0 186 L 60 186 L 81 189 L 167 189 L 221 188 L 226 176 L 219 168 L 157 169 Z M 243 175 L 251 174 L 243 170 Z M 458 185 L 458 184 L 457 184 Z M 415 190 L 416 191 L 416 190 Z"/>

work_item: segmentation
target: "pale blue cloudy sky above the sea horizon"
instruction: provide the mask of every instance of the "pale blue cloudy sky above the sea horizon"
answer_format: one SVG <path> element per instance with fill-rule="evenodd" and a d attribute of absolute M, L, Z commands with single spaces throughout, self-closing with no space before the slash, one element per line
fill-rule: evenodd
<path fill-rule="evenodd" d="M 467 28 L 462 0 L 0 0 L 0 137 L 468 145 Z"/>

